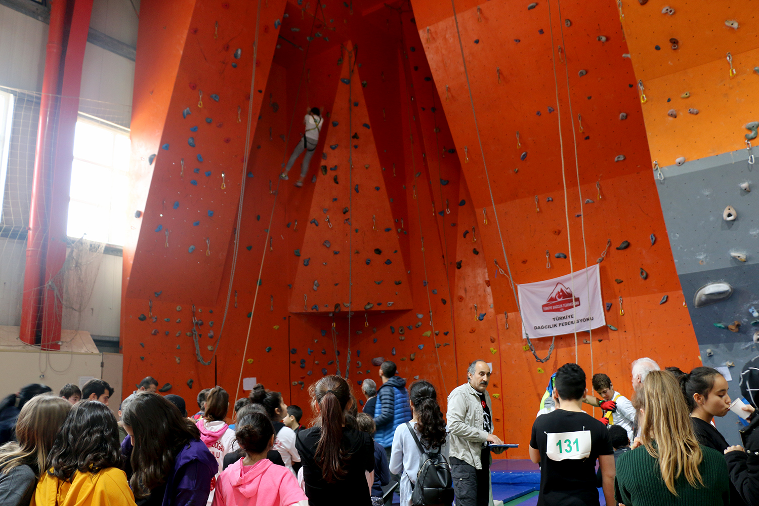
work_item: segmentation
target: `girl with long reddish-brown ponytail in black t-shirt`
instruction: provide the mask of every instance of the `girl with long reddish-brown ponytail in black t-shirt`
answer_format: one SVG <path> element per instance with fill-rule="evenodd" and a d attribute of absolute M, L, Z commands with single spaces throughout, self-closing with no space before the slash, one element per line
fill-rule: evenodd
<path fill-rule="evenodd" d="M 350 385 L 340 376 L 324 376 L 308 390 L 316 424 L 295 439 L 308 504 L 371 506 L 374 444 L 367 433 L 345 426 Z"/>

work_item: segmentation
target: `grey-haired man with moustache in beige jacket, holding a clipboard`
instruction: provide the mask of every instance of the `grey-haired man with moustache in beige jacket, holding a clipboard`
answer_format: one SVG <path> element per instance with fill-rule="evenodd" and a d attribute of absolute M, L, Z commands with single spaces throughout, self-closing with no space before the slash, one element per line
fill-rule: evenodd
<path fill-rule="evenodd" d="M 487 443 L 503 444 L 493 434 L 487 394 L 490 366 L 484 360 L 475 360 L 469 364 L 467 378 L 468 382 L 454 388 L 448 396 L 449 454 L 456 506 L 490 506 L 493 494 Z"/>

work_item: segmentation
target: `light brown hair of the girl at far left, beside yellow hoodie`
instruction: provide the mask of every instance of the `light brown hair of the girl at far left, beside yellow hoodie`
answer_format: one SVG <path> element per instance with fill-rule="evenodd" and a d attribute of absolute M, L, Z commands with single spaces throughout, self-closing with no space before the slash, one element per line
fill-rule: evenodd
<path fill-rule="evenodd" d="M 48 455 L 61 429 L 71 403 L 53 394 L 32 398 L 18 415 L 16 438 L 0 448 L 0 473 L 10 472 L 14 467 L 26 464 L 36 476 L 49 466 Z"/>

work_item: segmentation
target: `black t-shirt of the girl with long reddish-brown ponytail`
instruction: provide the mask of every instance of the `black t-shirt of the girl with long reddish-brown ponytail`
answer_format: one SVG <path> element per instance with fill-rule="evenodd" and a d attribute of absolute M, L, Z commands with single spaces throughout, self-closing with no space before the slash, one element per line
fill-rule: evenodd
<path fill-rule="evenodd" d="M 369 486 L 364 471 L 374 470 L 374 442 L 366 432 L 359 432 L 350 427 L 343 427 L 340 446 L 348 454 L 345 469 L 348 474 L 334 483 L 324 480 L 322 467 L 313 456 L 321 427 L 311 427 L 298 432 L 295 448 L 301 454 L 303 479 L 306 484 L 308 504 L 311 506 L 333 506 L 334 504 L 351 504 L 351 506 L 371 506 Z"/>

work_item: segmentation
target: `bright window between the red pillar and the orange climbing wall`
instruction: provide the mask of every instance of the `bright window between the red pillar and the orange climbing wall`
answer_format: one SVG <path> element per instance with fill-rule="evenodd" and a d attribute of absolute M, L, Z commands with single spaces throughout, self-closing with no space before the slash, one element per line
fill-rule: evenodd
<path fill-rule="evenodd" d="M 129 194 L 129 131 L 80 115 L 68 203 L 68 236 L 124 246 Z"/>

